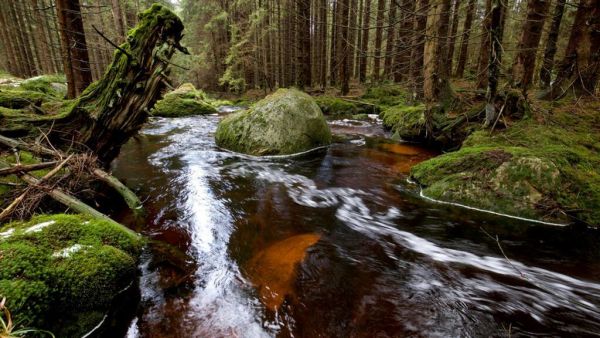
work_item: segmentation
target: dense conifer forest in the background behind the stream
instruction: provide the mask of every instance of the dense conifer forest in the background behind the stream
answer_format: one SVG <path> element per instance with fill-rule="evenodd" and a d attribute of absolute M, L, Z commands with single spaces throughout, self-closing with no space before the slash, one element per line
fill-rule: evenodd
<path fill-rule="evenodd" d="M 61 43 L 55 0 L 5 0 L 0 16 L 0 66 L 29 77 L 64 72 L 64 49 L 85 51 L 74 67 L 98 79 L 114 47 L 156 1 L 96 0 L 77 6 L 83 18 L 80 45 Z M 437 99 L 426 80 L 466 80 L 485 89 L 490 63 L 492 6 L 502 5 L 497 39 L 499 76 L 514 84 L 548 87 L 559 67 L 574 64 L 576 44 L 588 44 L 590 67 L 579 72 L 597 81 L 598 33 L 579 30 L 593 18 L 595 0 L 181 0 L 162 1 L 182 17 L 191 56 L 175 61 L 174 82 L 213 92 L 243 93 L 278 87 L 324 89 L 347 94 L 356 84 L 406 84 L 417 99 Z M 577 9 L 581 11 L 580 17 Z M 72 10 L 72 9 L 71 9 Z M 96 28 L 94 28 L 96 27 Z M 495 28 L 494 28 L 495 29 Z M 102 37 L 96 32 L 103 33 Z M 593 29 L 592 29 L 593 32 Z M 577 36 L 572 36 L 577 34 Z M 572 46 L 569 42 L 572 41 Z M 85 45 L 83 45 L 85 43 Z M 595 49 L 594 49 L 595 48 Z M 84 55 L 87 54 L 87 55 Z M 581 55 L 579 56 L 581 58 Z M 590 62 L 591 60 L 586 60 Z M 79 62 L 79 63 L 77 63 Z M 432 75 L 435 74 L 435 75 Z M 565 74 L 569 77 L 568 74 Z M 435 81 L 439 82 L 439 81 Z M 431 86 L 431 85 L 430 85 Z"/>

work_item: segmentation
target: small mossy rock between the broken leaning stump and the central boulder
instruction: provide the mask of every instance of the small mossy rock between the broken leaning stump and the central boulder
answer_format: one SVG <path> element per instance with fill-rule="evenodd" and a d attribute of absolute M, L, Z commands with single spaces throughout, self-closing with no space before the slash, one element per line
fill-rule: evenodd
<path fill-rule="evenodd" d="M 207 102 L 204 92 L 193 84 L 186 83 L 165 94 L 154 106 L 152 115 L 162 117 L 181 117 L 191 115 L 214 114 L 217 110 Z"/>

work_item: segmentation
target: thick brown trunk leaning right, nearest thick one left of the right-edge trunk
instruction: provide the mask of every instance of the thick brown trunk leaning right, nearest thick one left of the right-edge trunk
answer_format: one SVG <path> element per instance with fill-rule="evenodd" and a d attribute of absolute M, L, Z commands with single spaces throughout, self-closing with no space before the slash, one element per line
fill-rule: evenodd
<path fill-rule="evenodd" d="M 535 56 L 549 6 L 549 0 L 531 0 L 527 3 L 527 17 L 517 46 L 518 52 L 511 75 L 513 87 L 521 88 L 523 92 L 527 91 L 533 81 Z"/>

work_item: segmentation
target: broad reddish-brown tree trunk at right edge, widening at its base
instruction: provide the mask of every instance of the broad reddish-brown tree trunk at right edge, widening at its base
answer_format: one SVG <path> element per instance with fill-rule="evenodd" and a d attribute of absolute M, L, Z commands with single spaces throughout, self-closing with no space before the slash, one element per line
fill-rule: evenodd
<path fill-rule="evenodd" d="M 565 57 L 546 99 L 557 99 L 569 90 L 593 96 L 600 77 L 600 0 L 581 0 L 571 28 Z"/>

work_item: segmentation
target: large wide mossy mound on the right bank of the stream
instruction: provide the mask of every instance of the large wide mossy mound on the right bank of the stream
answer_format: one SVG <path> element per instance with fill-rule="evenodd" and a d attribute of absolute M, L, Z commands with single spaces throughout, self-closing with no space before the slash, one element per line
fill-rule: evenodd
<path fill-rule="evenodd" d="M 415 166 L 426 196 L 516 216 L 600 225 L 597 107 L 473 133 L 459 151 Z"/>

